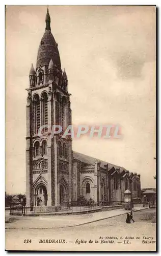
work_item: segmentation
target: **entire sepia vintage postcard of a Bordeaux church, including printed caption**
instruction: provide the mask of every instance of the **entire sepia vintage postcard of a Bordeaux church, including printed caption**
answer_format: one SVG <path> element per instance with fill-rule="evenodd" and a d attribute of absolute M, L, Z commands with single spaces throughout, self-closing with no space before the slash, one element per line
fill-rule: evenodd
<path fill-rule="evenodd" d="M 6 6 L 6 250 L 156 250 L 156 7 Z"/>

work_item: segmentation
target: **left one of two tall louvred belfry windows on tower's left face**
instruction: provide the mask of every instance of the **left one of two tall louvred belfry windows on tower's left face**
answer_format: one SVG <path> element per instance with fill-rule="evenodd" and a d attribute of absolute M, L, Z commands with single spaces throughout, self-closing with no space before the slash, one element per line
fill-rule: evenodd
<path fill-rule="evenodd" d="M 33 100 L 33 134 L 37 134 L 40 128 L 40 99 L 35 95 Z"/>

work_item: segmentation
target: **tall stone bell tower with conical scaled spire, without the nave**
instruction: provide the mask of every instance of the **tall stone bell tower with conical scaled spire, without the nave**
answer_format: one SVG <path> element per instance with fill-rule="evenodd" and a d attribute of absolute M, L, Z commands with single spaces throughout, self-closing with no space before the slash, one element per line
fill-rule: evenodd
<path fill-rule="evenodd" d="M 70 94 L 48 8 L 45 23 L 36 69 L 32 65 L 26 89 L 26 204 L 65 207 L 73 193 L 72 139 L 62 137 L 71 124 Z M 52 135 L 55 124 L 62 126 L 62 132 Z"/>

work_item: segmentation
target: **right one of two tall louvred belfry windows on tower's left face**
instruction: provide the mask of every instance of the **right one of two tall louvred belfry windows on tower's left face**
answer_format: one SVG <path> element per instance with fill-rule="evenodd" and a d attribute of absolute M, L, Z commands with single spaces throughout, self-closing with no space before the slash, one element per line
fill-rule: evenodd
<path fill-rule="evenodd" d="M 42 125 L 48 124 L 48 113 L 47 113 L 47 93 L 43 93 L 41 101 L 41 122 Z M 43 132 L 47 132 L 47 127 L 43 129 Z"/>

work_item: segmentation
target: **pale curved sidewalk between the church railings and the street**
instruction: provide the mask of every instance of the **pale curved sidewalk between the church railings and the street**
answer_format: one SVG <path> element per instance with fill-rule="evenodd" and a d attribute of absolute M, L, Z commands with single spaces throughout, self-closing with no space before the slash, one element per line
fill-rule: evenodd
<path fill-rule="evenodd" d="M 133 212 L 143 210 L 148 207 L 136 206 Z M 68 216 L 23 216 L 12 217 L 11 223 L 6 223 L 6 229 L 52 229 L 67 228 L 88 224 L 91 222 L 112 218 L 126 214 L 124 209 L 116 209 L 109 211 L 99 211 L 84 215 L 68 215 Z"/>

